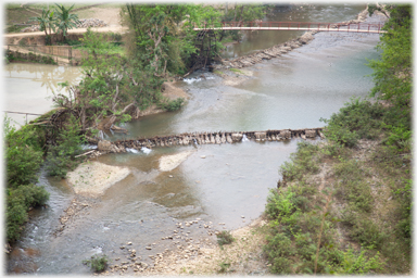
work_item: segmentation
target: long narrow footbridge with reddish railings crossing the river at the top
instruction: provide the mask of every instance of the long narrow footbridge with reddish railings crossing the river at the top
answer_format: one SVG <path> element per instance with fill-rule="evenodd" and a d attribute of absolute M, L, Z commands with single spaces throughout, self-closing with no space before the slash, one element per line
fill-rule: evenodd
<path fill-rule="evenodd" d="M 318 22 L 223 22 L 193 30 L 315 30 L 380 34 L 383 23 L 318 23 Z"/>

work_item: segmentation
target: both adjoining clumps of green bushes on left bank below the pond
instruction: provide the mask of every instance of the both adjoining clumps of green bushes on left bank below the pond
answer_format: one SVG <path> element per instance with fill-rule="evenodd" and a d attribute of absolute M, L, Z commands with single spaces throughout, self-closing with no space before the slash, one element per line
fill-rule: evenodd
<path fill-rule="evenodd" d="M 45 115 L 46 118 L 51 113 Z M 34 121 L 39 123 L 43 116 Z M 36 185 L 46 157 L 46 169 L 50 175 L 65 177 L 80 160 L 75 157 L 80 149 L 84 136 L 79 134 L 76 121 L 70 117 L 62 130 L 51 130 L 41 125 L 25 125 L 16 130 L 10 118 L 4 118 L 4 159 L 7 169 L 7 241 L 20 239 L 28 211 L 43 205 L 49 193 Z M 53 134 L 58 139 L 53 140 Z M 52 146 L 47 144 L 47 138 Z"/>

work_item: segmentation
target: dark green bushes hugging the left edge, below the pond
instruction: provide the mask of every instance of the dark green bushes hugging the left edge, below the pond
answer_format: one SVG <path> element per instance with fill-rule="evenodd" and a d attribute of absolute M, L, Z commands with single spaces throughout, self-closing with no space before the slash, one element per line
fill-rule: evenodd
<path fill-rule="evenodd" d="M 43 187 L 35 186 L 42 162 L 45 141 L 39 137 L 42 130 L 34 126 L 24 126 L 16 130 L 10 118 L 4 118 L 4 159 L 7 168 L 7 240 L 20 238 L 23 224 L 28 219 L 27 212 L 45 204 L 49 193 Z"/>

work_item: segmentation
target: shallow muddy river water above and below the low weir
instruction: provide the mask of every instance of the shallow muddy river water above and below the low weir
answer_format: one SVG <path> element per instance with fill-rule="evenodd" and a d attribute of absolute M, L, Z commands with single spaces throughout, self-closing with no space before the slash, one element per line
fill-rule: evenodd
<path fill-rule="evenodd" d="M 285 10 L 277 16 L 341 22 L 355 18 L 363 9 L 364 5 L 308 7 L 307 12 Z M 257 34 L 255 40 L 251 38 L 255 35 L 247 35 L 243 42 L 228 49 L 227 54 L 244 54 L 280 42 L 271 37 L 298 36 L 281 33 Z M 265 43 L 260 42 L 262 36 Z M 367 76 L 371 70 L 366 66 L 366 59 L 378 56 L 375 50 L 378 41 L 378 35 L 319 33 L 306 46 L 245 68 L 252 76 L 236 86 L 223 85 L 223 79 L 212 73 L 194 73 L 179 84 L 190 94 L 185 108 L 146 116 L 126 124 L 125 128 L 129 130 L 128 137 L 135 137 L 320 127 L 324 123 L 319 118 L 329 118 L 351 97 L 367 96 L 372 81 Z M 10 74 L 20 76 L 13 70 Z M 13 86 L 8 78 L 5 84 Z M 275 188 L 279 179 L 279 166 L 295 151 L 296 142 L 245 141 L 101 156 L 98 161 L 128 166 L 132 174 L 111 187 L 102 198 L 90 200 L 92 205 L 87 213 L 58 236 L 54 231 L 59 217 L 74 193 L 65 182 L 41 175 L 39 185 L 51 193 L 49 206 L 33 213 L 23 240 L 10 255 L 8 271 L 90 274 L 83 260 L 98 253 L 112 260 L 126 256 L 119 249 L 126 242 L 132 242 L 137 255 L 151 263 L 148 255 L 175 249 L 162 238 L 173 235 L 173 230 L 178 229 L 177 223 L 195 219 L 199 224 L 179 231 L 176 238 L 179 244 L 190 238 L 194 242 L 215 241 L 215 236 L 210 236 L 202 226 L 230 230 L 257 218 L 264 211 L 268 190 Z M 194 152 L 177 168 L 159 170 L 161 156 L 186 150 Z M 149 244 L 152 250 L 146 249 Z"/>

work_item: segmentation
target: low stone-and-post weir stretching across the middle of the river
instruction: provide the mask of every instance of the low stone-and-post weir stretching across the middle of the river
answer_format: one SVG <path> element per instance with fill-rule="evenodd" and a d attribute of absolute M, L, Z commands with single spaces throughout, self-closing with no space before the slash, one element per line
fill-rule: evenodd
<path fill-rule="evenodd" d="M 316 138 L 321 139 L 325 136 L 321 132 L 323 127 L 303 128 L 303 129 L 280 129 L 265 131 L 215 131 L 215 132 L 184 132 L 169 136 L 154 136 L 151 138 L 124 139 L 117 141 L 96 140 L 89 138 L 90 143 L 98 144 L 98 152 L 88 152 L 96 156 L 104 153 L 126 152 L 126 148 L 140 150 L 141 148 L 175 147 L 175 146 L 194 146 L 194 144 L 222 144 L 242 141 L 243 138 L 255 141 L 283 141 L 292 138 Z M 87 153 L 86 153 L 87 154 Z"/>

